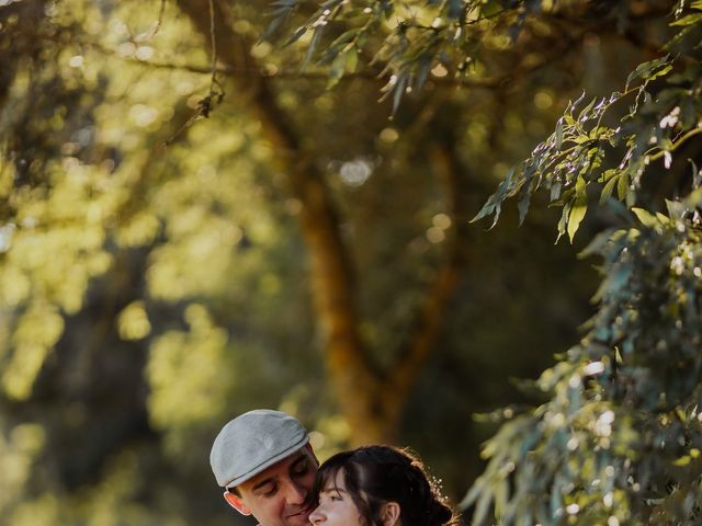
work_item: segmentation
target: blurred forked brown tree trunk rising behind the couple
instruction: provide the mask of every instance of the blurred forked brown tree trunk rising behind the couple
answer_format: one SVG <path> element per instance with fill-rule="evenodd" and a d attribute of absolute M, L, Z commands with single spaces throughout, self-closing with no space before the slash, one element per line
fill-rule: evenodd
<path fill-rule="evenodd" d="M 178 0 L 178 4 L 205 41 L 211 42 L 208 0 Z M 249 98 L 248 107 L 273 145 L 290 193 L 302 204 L 299 217 L 310 254 L 315 310 L 326 336 L 326 366 L 339 408 L 351 428 L 351 443 L 392 443 L 403 402 L 437 334 L 439 315 L 455 283 L 455 268 L 451 265 L 448 274 L 439 273 L 439 282 L 429 295 L 420 328 L 414 335 L 415 343 L 403 361 L 388 374 L 377 373 L 359 334 L 354 276 L 324 174 L 301 147 L 290 117 L 280 108 L 268 79 L 259 73 L 249 53 L 252 43 L 231 31 L 225 2 L 214 1 L 214 9 L 217 58 L 234 71 L 229 80 L 235 89 Z"/>

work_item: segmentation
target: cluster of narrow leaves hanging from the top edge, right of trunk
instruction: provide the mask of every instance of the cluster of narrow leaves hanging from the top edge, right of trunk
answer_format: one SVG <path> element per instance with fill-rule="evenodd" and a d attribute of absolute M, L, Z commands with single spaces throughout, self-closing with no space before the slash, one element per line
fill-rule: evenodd
<path fill-rule="evenodd" d="M 303 3 L 299 0 L 272 2 L 275 9 L 270 12 L 273 20 L 265 35 L 274 33 Z M 467 83 L 484 77 L 485 49 L 508 47 L 519 37 L 528 15 L 550 9 L 553 3 L 548 0 L 329 0 L 320 2 L 285 43 L 312 34 L 304 64 L 318 54 L 318 64 L 330 66 L 331 85 L 344 73 L 355 71 L 359 56 L 370 55 L 371 64 L 382 65 L 378 76 L 388 78 L 382 91 L 384 98 L 392 98 L 393 112 L 396 112 L 404 95 L 421 90 L 431 73 L 451 75 Z M 333 35 L 331 42 L 319 53 L 329 33 Z"/>

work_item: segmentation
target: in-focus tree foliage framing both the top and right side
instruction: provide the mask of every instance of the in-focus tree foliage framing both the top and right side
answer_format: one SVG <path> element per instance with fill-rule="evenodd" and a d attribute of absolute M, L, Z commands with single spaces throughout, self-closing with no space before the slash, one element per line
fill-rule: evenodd
<path fill-rule="evenodd" d="M 281 15 L 297 7 L 276 4 Z M 397 16 L 396 28 L 383 36 L 376 58 L 392 72 L 385 91 L 397 108 L 407 88 L 421 89 L 432 68 L 469 82 L 466 65 L 484 66 L 496 31 L 513 42 L 543 42 L 535 37 L 544 21 L 563 27 L 574 14 L 609 15 L 634 44 L 650 47 L 635 21 L 670 12 L 673 32 L 658 57 L 633 69 L 621 89 L 569 103 L 554 133 L 509 172 L 475 218 L 491 215 L 495 225 L 503 202 L 518 197 L 523 220 L 532 196 L 545 191 L 562 208 L 558 238 L 574 240 L 598 196 L 614 226 L 584 251 L 603 259 L 598 310 L 585 336 L 535 384 L 546 399 L 542 405 L 496 413 L 507 422 L 487 443 L 490 461 L 464 505 L 476 504 L 476 524 L 490 504 L 501 524 L 694 524 L 701 481 L 702 3 L 433 5 L 422 12 L 388 1 L 364 9 L 367 22 L 351 24 L 325 49 L 332 78 L 354 64 L 351 58 L 389 16 Z M 352 21 L 361 9 L 326 2 L 295 36 L 313 32 L 313 54 L 328 24 Z"/>

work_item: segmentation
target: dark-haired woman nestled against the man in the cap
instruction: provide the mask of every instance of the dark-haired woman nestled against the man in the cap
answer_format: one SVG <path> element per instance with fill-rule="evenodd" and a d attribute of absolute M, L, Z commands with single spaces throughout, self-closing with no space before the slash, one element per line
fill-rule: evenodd
<path fill-rule="evenodd" d="M 421 461 L 390 446 L 339 453 L 319 467 L 315 526 L 454 526 L 457 518 Z"/>

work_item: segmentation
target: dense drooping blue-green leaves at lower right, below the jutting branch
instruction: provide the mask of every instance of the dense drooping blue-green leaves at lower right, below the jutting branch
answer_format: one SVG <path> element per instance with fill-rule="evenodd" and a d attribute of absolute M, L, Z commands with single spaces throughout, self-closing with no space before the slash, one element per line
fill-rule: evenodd
<path fill-rule="evenodd" d="M 599 310 L 536 382 L 550 401 L 486 445 L 490 462 L 466 496 L 476 522 L 491 499 L 505 524 L 694 522 L 699 226 L 680 209 L 635 213 L 643 222 L 601 233 L 587 252 L 604 260 Z"/>

